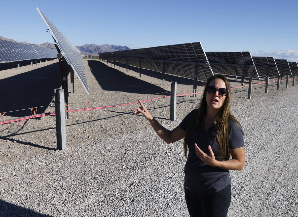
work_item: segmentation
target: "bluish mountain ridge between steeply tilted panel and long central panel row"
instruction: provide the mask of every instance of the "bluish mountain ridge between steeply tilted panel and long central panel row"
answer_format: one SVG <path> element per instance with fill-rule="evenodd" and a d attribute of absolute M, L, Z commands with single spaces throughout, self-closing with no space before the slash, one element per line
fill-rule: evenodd
<path fill-rule="evenodd" d="M 116 45 L 116 44 L 85 44 L 83 46 L 76 46 L 76 48 L 82 54 L 97 54 L 103 52 L 114 52 L 114 51 L 121 51 L 121 50 L 130 50 L 129 47 Z"/>

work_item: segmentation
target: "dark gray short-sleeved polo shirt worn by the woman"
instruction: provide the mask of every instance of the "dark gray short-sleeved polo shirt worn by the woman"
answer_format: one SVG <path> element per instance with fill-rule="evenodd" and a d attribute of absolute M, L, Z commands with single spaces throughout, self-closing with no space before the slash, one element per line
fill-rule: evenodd
<path fill-rule="evenodd" d="M 192 119 L 196 118 L 196 115 L 197 109 L 187 114 L 180 123 L 180 128 L 186 131 L 188 124 Z M 229 148 L 234 149 L 244 146 L 243 134 L 239 126 L 233 121 L 230 121 L 229 125 Z M 215 136 L 216 130 L 214 124 L 204 132 L 204 123 L 200 123 L 188 141 L 189 153 L 184 167 L 184 183 L 186 188 L 193 193 L 215 193 L 231 183 L 229 170 L 212 167 L 201 161 L 195 153 L 195 143 L 206 154 L 209 154 L 208 146 L 210 145 L 215 159 L 220 159 L 217 156 L 219 146 L 217 141 L 214 142 Z"/>

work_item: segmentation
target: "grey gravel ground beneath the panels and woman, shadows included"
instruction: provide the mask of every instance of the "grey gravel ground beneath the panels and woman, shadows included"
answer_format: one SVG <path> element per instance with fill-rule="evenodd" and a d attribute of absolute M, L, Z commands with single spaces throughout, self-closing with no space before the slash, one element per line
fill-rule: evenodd
<path fill-rule="evenodd" d="M 21 62 L 22 63 L 22 62 Z M 1 63 L 1 108 L 5 118 L 54 111 L 60 87 L 58 61 L 21 66 Z M 169 92 L 189 93 L 193 81 L 142 69 L 85 60 L 90 95 L 78 79 L 69 108 L 135 102 Z M 12 68 L 12 69 L 11 69 Z M 230 79 L 232 87 L 240 80 Z M 254 83 L 258 81 L 254 80 Z M 203 87 L 198 87 L 199 91 Z M 13 91 L 11 91 L 13 90 Z M 245 133 L 246 165 L 230 171 L 232 202 L 228 216 L 298 216 L 297 84 L 276 83 L 232 90 L 232 114 Z M 175 128 L 200 102 L 177 97 L 177 120 L 170 121 L 170 99 L 145 103 L 166 128 Z M 88 103 L 89 102 L 89 103 Z M 66 120 L 65 150 L 56 150 L 55 117 L 0 126 L 0 216 L 188 216 L 184 201 L 182 141 L 163 142 L 131 108 L 119 106 L 73 112 Z M 23 111 L 8 112 L 30 108 Z M 35 111 L 35 109 L 33 109 Z M 3 120 L 3 117 L 2 117 Z"/>

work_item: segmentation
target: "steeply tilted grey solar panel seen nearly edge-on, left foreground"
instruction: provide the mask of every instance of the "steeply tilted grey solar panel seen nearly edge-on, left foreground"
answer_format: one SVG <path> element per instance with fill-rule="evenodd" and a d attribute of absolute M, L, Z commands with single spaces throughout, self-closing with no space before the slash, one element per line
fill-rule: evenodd
<path fill-rule="evenodd" d="M 72 45 L 72 43 L 58 30 L 58 28 L 38 9 L 36 8 L 48 26 L 52 36 L 54 37 L 58 48 L 67 63 L 72 67 L 80 82 L 82 83 L 87 94 L 89 94 L 89 87 L 85 71 L 85 64 L 80 51 Z"/>

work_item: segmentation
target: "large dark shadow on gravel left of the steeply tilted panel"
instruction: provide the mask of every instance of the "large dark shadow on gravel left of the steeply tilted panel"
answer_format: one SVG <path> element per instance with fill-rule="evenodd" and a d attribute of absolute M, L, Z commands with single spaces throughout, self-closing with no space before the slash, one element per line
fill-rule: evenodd
<path fill-rule="evenodd" d="M 36 106 L 43 106 L 37 108 L 36 114 L 44 113 L 52 101 L 54 89 L 61 87 L 59 63 L 1 79 L 0 87 L 0 112 L 5 116 L 28 116 L 31 108 L 35 111 Z M 30 109 L 15 111 L 25 108 Z"/>

